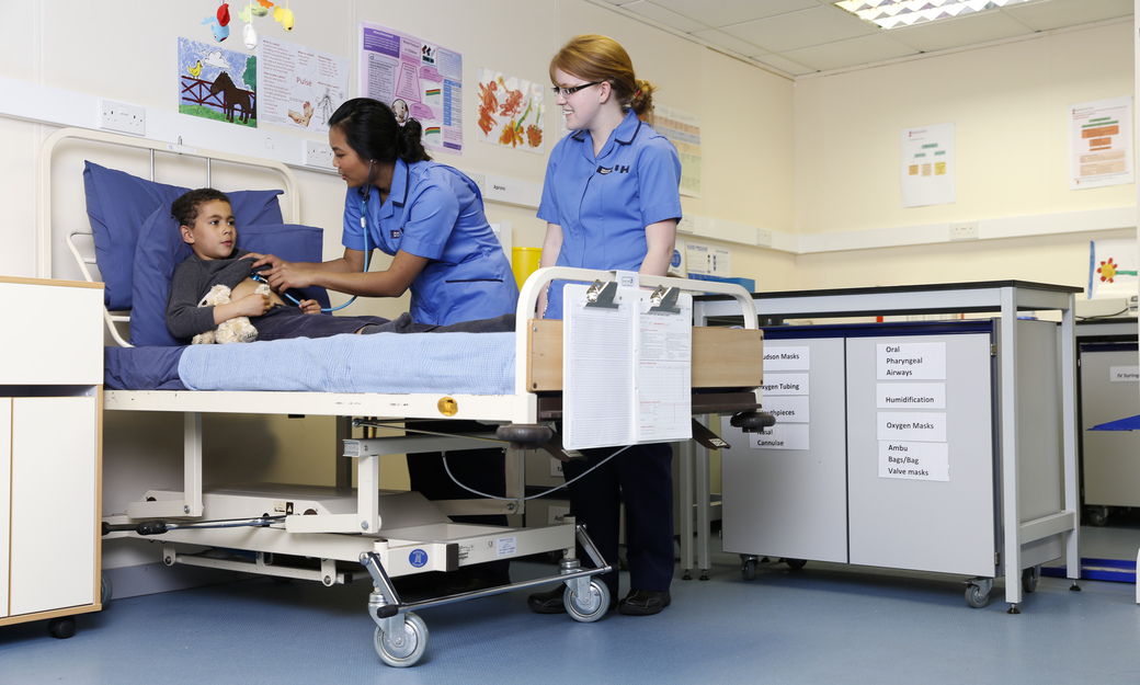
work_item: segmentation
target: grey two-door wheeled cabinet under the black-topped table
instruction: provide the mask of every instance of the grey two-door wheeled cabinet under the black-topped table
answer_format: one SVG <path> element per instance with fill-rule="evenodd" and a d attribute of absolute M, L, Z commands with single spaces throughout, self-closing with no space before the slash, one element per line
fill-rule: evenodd
<path fill-rule="evenodd" d="M 1026 443 L 1019 520 L 1062 508 L 1056 325 L 1016 323 L 1010 417 Z M 726 429 L 724 549 L 755 556 L 1002 574 L 997 455 L 1002 358 L 994 321 L 765 331 L 764 407 L 776 424 Z M 1052 430 L 1050 430 L 1052 429 Z M 1007 429 L 1009 430 L 1009 429 Z M 1059 535 L 1023 568 L 1061 555 Z"/>

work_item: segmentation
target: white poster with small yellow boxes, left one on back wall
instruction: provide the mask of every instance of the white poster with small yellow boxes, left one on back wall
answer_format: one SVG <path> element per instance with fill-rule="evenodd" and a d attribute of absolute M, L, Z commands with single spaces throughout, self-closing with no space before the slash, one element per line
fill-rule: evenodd
<path fill-rule="evenodd" d="M 903 129 L 904 207 L 951 204 L 954 189 L 954 124 Z"/>

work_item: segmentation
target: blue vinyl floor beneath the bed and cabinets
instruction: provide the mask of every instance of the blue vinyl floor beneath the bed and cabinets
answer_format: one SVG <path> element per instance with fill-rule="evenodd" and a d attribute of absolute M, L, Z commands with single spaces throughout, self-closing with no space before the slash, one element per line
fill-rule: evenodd
<path fill-rule="evenodd" d="M 1001 581 L 969 609 L 962 580 L 766 563 L 746 581 L 717 554 L 707 581 L 678 571 L 656 617 L 537 615 L 530 590 L 425 609 L 426 652 L 405 669 L 376 655 L 368 582 L 243 580 L 115 600 L 70 639 L 0 628 L 0 683 L 1140 683 L 1135 586 L 1042 578 L 1010 615 Z"/>

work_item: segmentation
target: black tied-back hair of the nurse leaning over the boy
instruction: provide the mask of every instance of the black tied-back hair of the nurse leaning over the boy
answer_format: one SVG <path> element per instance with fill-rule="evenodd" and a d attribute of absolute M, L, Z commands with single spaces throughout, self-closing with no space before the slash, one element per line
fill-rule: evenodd
<path fill-rule="evenodd" d="M 328 120 L 328 127 L 340 130 L 361 160 L 396 162 L 400 158 L 408 164 L 431 160 L 421 141 L 423 127 L 420 122 L 409 119 L 401 127 L 391 107 L 380 100 L 344 100 Z"/>

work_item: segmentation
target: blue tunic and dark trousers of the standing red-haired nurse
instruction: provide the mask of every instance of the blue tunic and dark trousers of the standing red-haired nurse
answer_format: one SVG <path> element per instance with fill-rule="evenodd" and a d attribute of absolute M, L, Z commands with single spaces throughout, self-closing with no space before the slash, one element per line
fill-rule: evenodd
<path fill-rule="evenodd" d="M 663 136 L 632 111 L 594 156 L 587 131 L 559 141 L 551 154 L 538 218 L 562 227 L 557 264 L 637 271 L 645 259 L 645 227 L 681 218 L 681 161 Z M 562 288 L 551 284 L 547 318 L 562 318 Z M 626 505 L 626 548 L 632 589 L 665 592 L 673 580 L 673 450 L 634 445 L 583 450 L 562 465 L 571 483 L 570 513 L 585 523 L 602 557 L 616 565 L 619 512 Z M 578 551 L 578 557 L 589 560 Z M 618 573 L 602 576 L 618 596 Z"/>

